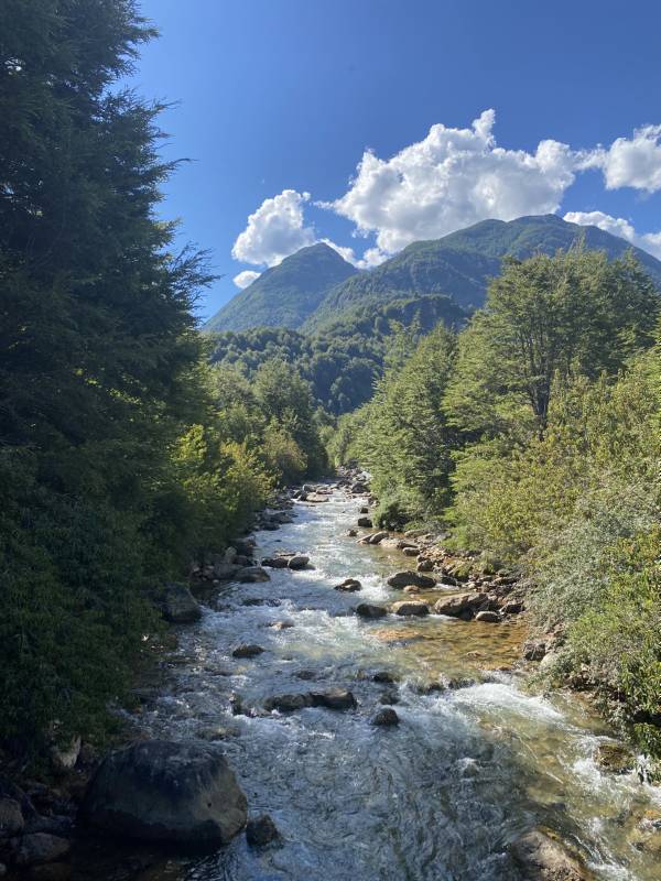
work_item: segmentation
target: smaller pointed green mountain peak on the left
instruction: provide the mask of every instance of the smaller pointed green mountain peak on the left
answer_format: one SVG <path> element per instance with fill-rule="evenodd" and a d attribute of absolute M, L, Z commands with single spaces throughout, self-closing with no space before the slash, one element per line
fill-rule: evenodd
<path fill-rule="evenodd" d="M 312 244 L 266 270 L 205 325 L 205 330 L 300 327 L 356 268 L 327 244 Z"/>

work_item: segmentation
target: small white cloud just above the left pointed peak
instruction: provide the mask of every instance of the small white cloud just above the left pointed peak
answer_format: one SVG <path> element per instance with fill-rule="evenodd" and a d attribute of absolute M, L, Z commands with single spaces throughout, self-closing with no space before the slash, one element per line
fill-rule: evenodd
<path fill-rule="evenodd" d="M 274 267 L 294 251 L 313 244 L 314 229 L 305 226 L 303 218 L 303 206 L 308 200 L 310 193 L 295 189 L 283 189 L 280 195 L 264 199 L 248 217 L 246 229 L 234 243 L 235 260 Z"/>

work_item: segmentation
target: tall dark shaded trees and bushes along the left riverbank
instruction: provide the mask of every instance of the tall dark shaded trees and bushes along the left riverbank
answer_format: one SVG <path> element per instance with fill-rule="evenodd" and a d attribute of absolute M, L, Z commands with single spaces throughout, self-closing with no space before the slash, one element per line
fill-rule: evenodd
<path fill-rule="evenodd" d="M 325 454 L 293 368 L 208 367 L 134 3 L 8 0 L 0 34 L 0 738 L 39 748 L 102 729 L 160 586 Z"/>

